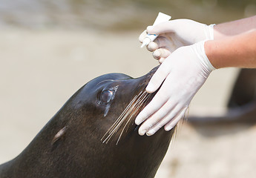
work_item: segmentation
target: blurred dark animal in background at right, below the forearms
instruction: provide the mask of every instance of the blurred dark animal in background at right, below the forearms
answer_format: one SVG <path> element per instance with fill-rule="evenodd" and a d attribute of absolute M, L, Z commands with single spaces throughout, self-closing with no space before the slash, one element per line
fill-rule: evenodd
<path fill-rule="evenodd" d="M 191 116 L 192 125 L 255 123 L 256 122 L 256 69 L 241 69 L 234 82 L 228 111 L 223 116 Z"/>

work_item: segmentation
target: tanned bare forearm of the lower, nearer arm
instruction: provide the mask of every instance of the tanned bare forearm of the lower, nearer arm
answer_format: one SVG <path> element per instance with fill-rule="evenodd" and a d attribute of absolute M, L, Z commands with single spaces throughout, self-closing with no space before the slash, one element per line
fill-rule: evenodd
<path fill-rule="evenodd" d="M 256 30 L 205 43 L 206 56 L 215 68 L 256 67 Z"/>

